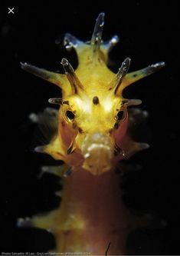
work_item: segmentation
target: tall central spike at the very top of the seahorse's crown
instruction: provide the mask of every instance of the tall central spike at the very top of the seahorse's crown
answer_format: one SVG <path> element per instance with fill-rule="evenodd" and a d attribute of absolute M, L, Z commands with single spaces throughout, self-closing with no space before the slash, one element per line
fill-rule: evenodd
<path fill-rule="evenodd" d="M 93 30 L 93 35 L 91 38 L 90 45 L 93 48 L 93 55 L 97 54 L 100 50 L 101 38 L 103 34 L 103 25 L 104 25 L 104 13 L 101 12 L 100 15 L 97 17 L 97 22 Z"/>

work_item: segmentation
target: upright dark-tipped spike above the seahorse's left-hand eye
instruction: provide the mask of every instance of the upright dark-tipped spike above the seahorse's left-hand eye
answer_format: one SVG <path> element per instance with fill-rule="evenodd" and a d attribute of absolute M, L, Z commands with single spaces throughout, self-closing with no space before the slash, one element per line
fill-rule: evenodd
<path fill-rule="evenodd" d="M 70 82 L 73 94 L 77 94 L 79 88 L 83 89 L 83 85 L 81 85 L 80 80 L 77 78 L 74 68 L 70 65 L 66 58 L 62 58 L 61 64 L 64 67 L 64 71 L 66 72 L 67 79 Z"/>

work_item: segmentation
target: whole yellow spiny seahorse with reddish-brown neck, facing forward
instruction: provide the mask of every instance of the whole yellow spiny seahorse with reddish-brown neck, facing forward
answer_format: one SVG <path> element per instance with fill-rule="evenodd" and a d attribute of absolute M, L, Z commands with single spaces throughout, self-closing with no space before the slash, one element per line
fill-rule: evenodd
<path fill-rule="evenodd" d="M 129 232 L 146 224 L 124 206 L 119 188 L 121 161 L 149 148 L 130 133 L 137 115 L 143 119 L 147 112 L 129 111 L 129 106 L 142 101 L 123 98 L 123 90 L 165 63 L 128 73 L 131 60 L 126 58 L 115 74 L 107 65 L 118 36 L 103 42 L 103 25 L 104 13 L 100 13 L 90 42 L 68 33 L 64 36 L 65 48 L 77 53 L 76 70 L 66 58 L 61 60 L 65 74 L 21 63 L 25 71 L 57 85 L 62 93 L 61 98 L 49 99 L 59 105 L 58 111 L 47 108 L 41 115 L 31 115 L 31 120 L 46 121 L 54 129 L 50 143 L 35 151 L 64 161 L 42 168 L 61 178 L 61 205 L 48 214 L 18 220 L 18 226 L 51 231 L 58 253 L 127 254 Z"/>

